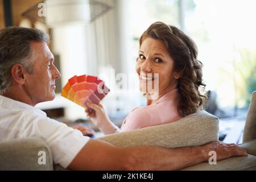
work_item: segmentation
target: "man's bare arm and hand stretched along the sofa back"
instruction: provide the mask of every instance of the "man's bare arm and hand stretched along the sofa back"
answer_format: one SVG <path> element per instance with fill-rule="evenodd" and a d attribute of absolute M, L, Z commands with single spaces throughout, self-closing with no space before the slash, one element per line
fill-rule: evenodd
<path fill-rule="evenodd" d="M 209 151 L 216 151 L 217 160 L 247 155 L 242 148 L 221 142 L 180 148 L 154 146 L 118 148 L 101 140 L 90 139 L 68 168 L 73 170 L 177 170 L 208 161 Z"/>

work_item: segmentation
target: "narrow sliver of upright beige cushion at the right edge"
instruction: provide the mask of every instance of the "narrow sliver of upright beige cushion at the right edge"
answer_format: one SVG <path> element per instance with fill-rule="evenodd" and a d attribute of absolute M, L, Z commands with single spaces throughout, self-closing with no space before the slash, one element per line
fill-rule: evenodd
<path fill-rule="evenodd" d="M 243 142 L 256 139 L 256 91 L 251 94 L 251 104 L 246 117 Z"/>

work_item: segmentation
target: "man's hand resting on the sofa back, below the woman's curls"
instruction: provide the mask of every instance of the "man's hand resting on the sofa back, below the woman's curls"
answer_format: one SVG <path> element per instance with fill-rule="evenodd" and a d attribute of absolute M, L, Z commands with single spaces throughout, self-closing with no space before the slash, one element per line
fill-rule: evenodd
<path fill-rule="evenodd" d="M 207 153 L 206 155 L 208 155 L 210 151 L 215 151 L 217 154 L 217 160 L 230 158 L 232 156 L 247 156 L 247 152 L 234 143 L 228 144 L 217 141 L 205 144 L 201 147 L 202 150 Z"/>

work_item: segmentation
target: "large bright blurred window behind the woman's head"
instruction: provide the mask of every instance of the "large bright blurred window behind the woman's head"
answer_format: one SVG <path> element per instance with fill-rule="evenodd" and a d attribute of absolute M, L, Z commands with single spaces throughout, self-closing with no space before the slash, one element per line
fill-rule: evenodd
<path fill-rule="evenodd" d="M 172 24 L 195 40 L 198 59 L 204 64 L 206 89 L 217 93 L 218 105 L 228 110 L 249 104 L 250 94 L 256 90 L 255 1 L 131 0 L 128 3 L 127 24 L 130 24 L 133 54 L 127 67 L 135 67 L 138 39 L 151 23 Z"/>

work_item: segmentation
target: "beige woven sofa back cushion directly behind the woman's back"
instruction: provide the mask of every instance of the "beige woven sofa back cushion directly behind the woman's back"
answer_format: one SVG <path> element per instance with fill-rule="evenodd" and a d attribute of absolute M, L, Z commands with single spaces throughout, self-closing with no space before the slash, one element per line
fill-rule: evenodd
<path fill-rule="evenodd" d="M 202 110 L 173 123 L 106 135 L 98 139 L 118 147 L 199 146 L 218 140 L 218 118 Z"/>

